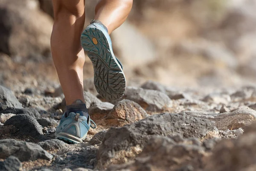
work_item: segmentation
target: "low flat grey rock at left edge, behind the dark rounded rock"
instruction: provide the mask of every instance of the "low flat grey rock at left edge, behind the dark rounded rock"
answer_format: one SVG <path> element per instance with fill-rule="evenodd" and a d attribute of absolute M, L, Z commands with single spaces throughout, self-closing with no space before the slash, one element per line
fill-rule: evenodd
<path fill-rule="evenodd" d="M 34 108 L 7 108 L 5 110 L 0 111 L 3 114 L 27 114 L 31 117 L 41 117 L 37 110 Z"/>

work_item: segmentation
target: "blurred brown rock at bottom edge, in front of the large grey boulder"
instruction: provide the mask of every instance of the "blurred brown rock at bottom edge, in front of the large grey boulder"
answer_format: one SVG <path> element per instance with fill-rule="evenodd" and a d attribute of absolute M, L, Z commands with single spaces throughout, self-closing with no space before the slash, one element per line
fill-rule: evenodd
<path fill-rule="evenodd" d="M 155 136 L 145 145 L 134 163 L 121 167 L 113 166 L 107 171 L 190 171 L 183 169 L 187 165 L 193 171 L 202 168 L 205 156 L 206 153 L 201 146 L 186 142 L 176 143 L 171 138 Z"/>

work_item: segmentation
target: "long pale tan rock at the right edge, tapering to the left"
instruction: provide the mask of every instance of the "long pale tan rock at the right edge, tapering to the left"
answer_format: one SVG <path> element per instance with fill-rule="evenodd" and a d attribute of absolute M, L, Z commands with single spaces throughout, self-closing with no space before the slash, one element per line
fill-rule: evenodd
<path fill-rule="evenodd" d="M 181 113 L 213 120 L 219 130 L 244 128 L 244 126 L 250 125 L 256 119 L 256 111 L 245 108 L 220 114 L 198 111 L 183 111 Z"/>

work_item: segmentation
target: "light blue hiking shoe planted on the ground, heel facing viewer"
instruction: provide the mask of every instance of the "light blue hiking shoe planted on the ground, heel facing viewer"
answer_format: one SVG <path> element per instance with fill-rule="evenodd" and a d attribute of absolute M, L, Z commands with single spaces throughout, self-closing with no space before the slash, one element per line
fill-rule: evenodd
<path fill-rule="evenodd" d="M 93 123 L 94 126 L 90 123 Z M 80 116 L 79 113 L 70 112 L 67 116 L 65 112 L 56 128 L 55 137 L 73 144 L 81 143 L 86 138 L 90 127 L 96 128 L 96 124 L 89 115 L 87 119 L 85 116 Z"/>

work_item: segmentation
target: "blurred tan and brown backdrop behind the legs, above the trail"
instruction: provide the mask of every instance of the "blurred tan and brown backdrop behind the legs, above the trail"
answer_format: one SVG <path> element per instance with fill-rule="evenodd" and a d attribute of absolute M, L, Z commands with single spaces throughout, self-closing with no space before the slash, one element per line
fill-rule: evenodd
<path fill-rule="evenodd" d="M 86 0 L 85 26 L 97 0 Z M 173 87 L 256 83 L 255 0 L 134 0 L 113 31 L 128 85 Z M 51 0 L 0 0 L 0 84 L 13 91 L 58 87 L 52 62 Z M 69 34 L 69 33 L 67 33 Z M 84 79 L 93 77 L 88 57 Z"/>

